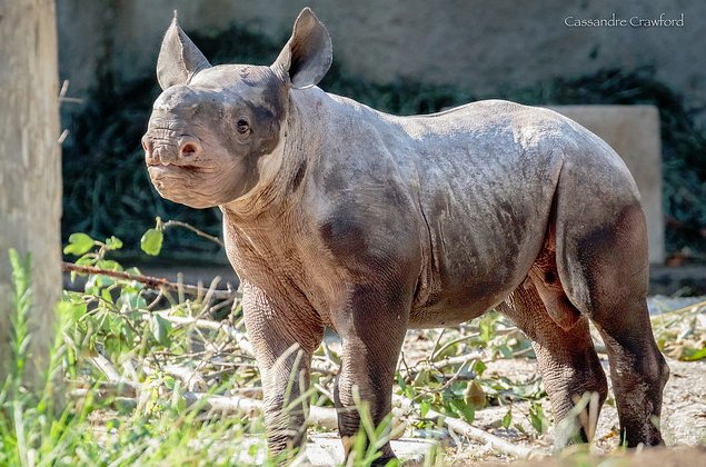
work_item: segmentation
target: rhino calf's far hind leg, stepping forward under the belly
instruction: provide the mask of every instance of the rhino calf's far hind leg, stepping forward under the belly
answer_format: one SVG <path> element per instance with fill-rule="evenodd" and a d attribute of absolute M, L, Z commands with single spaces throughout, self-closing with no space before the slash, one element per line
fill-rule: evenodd
<path fill-rule="evenodd" d="M 571 327 L 563 327 L 546 309 L 531 282 L 519 286 L 498 310 L 533 340 L 545 390 L 549 395 L 558 448 L 593 438 L 608 387 L 594 349 L 588 319 L 579 316 Z M 577 312 L 577 311 L 576 311 Z M 571 416 L 575 403 L 585 394 L 597 394 L 579 417 Z"/>

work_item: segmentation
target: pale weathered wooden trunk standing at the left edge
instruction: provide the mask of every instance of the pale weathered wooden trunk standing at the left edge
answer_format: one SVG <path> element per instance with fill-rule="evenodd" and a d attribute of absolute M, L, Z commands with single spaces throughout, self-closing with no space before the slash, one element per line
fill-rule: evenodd
<path fill-rule="evenodd" d="M 26 362 L 38 381 L 61 292 L 61 152 L 53 0 L 0 0 L 0 382 L 11 359 L 8 250 L 32 255 Z"/>

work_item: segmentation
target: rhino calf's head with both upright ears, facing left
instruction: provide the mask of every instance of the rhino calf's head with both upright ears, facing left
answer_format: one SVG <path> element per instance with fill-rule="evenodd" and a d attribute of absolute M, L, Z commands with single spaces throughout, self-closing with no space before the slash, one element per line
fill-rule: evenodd
<path fill-rule="evenodd" d="M 308 8 L 270 67 L 211 67 L 175 16 L 157 61 L 163 92 L 142 137 L 157 191 L 193 208 L 246 195 L 277 152 L 289 90 L 315 86 L 330 63 L 330 38 Z"/>

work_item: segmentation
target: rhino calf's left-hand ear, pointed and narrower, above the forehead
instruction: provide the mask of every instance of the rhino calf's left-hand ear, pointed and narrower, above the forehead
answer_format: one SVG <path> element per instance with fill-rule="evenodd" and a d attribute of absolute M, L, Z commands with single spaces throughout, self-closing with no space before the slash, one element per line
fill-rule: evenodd
<path fill-rule="evenodd" d="M 165 90 L 175 85 L 186 85 L 193 74 L 210 66 L 203 53 L 179 27 L 175 11 L 175 19 L 167 29 L 157 59 L 159 86 Z"/>

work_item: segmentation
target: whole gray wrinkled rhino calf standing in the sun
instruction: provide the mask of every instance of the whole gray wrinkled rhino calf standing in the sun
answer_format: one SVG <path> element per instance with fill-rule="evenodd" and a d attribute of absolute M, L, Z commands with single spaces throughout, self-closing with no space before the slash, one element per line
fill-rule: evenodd
<path fill-rule="evenodd" d="M 330 62 L 308 9 L 270 67 L 211 67 L 175 19 L 142 141 L 160 195 L 223 213 L 272 454 L 302 443 L 302 408 L 282 406 L 307 386 L 325 327 L 342 339 L 335 398 L 348 448 L 355 391 L 374 421 L 390 411 L 407 329 L 494 307 L 534 340 L 556 420 L 585 391 L 606 398 L 593 321 L 624 439 L 662 444 L 669 371 L 645 301 L 645 218 L 620 158 L 571 120 L 511 102 L 385 115 L 315 87 Z"/>

